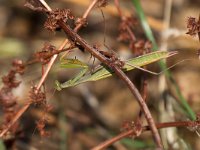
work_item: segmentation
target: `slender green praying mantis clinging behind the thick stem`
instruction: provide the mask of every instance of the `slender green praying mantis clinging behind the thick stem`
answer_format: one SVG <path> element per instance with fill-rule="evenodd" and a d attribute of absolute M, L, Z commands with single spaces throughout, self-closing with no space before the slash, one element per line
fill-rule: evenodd
<path fill-rule="evenodd" d="M 153 73 L 151 71 L 142 69 L 141 66 L 151 64 L 161 59 L 170 57 L 174 54 L 176 54 L 176 52 L 156 51 L 156 52 L 148 53 L 148 54 L 124 61 L 125 65 L 123 66 L 122 70 L 124 72 L 127 72 L 127 71 L 137 68 L 137 69 L 141 69 L 141 70 Z M 101 64 L 98 68 L 96 68 L 93 72 L 91 72 L 89 70 L 89 66 L 79 61 L 78 59 L 61 60 L 60 66 L 64 68 L 82 68 L 82 69 L 71 80 L 68 80 L 64 83 L 60 83 L 56 81 L 56 89 L 59 91 L 62 90 L 63 88 L 76 86 L 84 82 L 97 81 L 100 79 L 104 79 L 114 74 L 114 72 L 111 69 L 107 68 L 103 64 Z M 156 74 L 156 73 L 153 73 L 153 74 Z"/>

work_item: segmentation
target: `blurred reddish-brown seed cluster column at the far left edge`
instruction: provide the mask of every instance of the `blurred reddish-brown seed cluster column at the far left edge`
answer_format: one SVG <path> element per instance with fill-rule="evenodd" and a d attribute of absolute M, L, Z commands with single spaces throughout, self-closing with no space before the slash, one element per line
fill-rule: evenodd
<path fill-rule="evenodd" d="M 22 75 L 25 67 L 21 60 L 14 60 L 12 62 L 12 68 L 7 75 L 2 77 L 3 86 L 0 89 L 0 106 L 3 110 L 3 123 L 1 128 L 7 127 L 7 124 L 13 119 L 16 114 L 17 108 L 17 97 L 13 95 L 12 90 L 17 88 L 21 81 L 16 79 L 17 74 Z M 19 130 L 19 124 L 15 125 L 10 129 L 10 134 L 15 136 Z"/>

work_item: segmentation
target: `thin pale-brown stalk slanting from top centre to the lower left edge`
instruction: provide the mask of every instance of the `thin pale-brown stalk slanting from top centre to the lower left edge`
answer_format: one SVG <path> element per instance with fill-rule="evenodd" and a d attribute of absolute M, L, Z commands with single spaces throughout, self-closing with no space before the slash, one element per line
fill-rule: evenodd
<path fill-rule="evenodd" d="M 40 1 L 40 0 L 39 0 Z M 40 1 L 41 2 L 41 1 Z M 89 7 L 87 8 L 87 10 L 85 11 L 85 13 L 83 14 L 83 18 L 87 18 L 89 13 L 91 12 L 92 8 L 95 6 L 95 4 L 98 2 L 98 0 L 93 0 L 93 2 L 89 5 Z M 42 4 L 43 6 L 48 9 L 49 11 L 51 11 L 50 7 L 45 3 L 45 1 L 42 0 Z M 78 24 L 74 31 L 77 32 L 81 27 L 82 27 L 83 24 Z M 66 39 L 62 44 L 61 46 L 59 47 L 59 50 L 62 50 L 65 45 L 68 43 L 68 39 Z M 47 65 L 47 69 L 45 70 L 44 74 L 42 75 L 36 89 L 37 91 L 40 89 L 40 87 L 42 86 L 42 84 L 44 83 L 53 63 L 55 62 L 56 58 L 57 58 L 58 54 L 55 54 L 50 62 L 48 63 Z M 22 116 L 22 114 L 29 108 L 29 106 L 31 105 L 31 102 L 28 102 L 27 104 L 25 104 L 18 112 L 17 114 L 13 117 L 12 121 L 7 125 L 7 128 L 4 129 L 1 134 L 0 134 L 0 137 L 3 137 L 4 134 L 14 125 L 14 123 Z"/>

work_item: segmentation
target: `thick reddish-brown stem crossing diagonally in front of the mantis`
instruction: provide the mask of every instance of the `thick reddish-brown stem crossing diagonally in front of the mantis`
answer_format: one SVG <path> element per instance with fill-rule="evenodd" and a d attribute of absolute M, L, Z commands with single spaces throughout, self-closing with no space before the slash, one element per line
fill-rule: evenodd
<path fill-rule="evenodd" d="M 160 135 L 159 135 L 158 130 L 155 126 L 155 122 L 152 118 L 152 115 L 151 115 L 145 101 L 143 100 L 142 96 L 140 95 L 138 89 L 130 81 L 130 79 L 126 76 L 126 74 L 117 65 L 113 65 L 113 63 L 110 62 L 104 55 L 102 55 L 101 53 L 99 53 L 99 51 L 97 51 L 92 46 L 90 46 L 84 39 L 82 39 L 76 32 L 74 32 L 62 20 L 59 20 L 58 24 L 65 31 L 65 33 L 67 34 L 67 36 L 69 36 L 69 38 L 71 40 L 78 42 L 81 46 L 83 46 L 85 48 L 85 50 L 87 50 L 89 53 L 91 53 L 99 61 L 106 64 L 109 68 L 111 68 L 116 73 L 116 75 L 126 83 L 126 85 L 130 89 L 132 94 L 136 97 L 136 99 L 137 99 L 137 101 L 138 101 L 138 103 L 139 103 L 139 105 L 140 105 L 140 107 L 141 107 L 141 109 L 142 109 L 142 111 L 143 111 L 143 113 L 146 117 L 146 120 L 147 120 L 147 122 L 148 122 L 148 124 L 151 128 L 152 133 L 153 133 L 153 137 L 154 137 L 154 140 L 156 142 L 157 147 L 162 149 L 162 143 L 161 143 Z"/>

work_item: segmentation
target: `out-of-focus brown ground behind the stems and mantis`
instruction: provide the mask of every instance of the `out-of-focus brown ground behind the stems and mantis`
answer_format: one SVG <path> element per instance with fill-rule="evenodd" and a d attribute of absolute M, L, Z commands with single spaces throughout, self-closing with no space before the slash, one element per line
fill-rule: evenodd
<path fill-rule="evenodd" d="M 81 16 L 89 2 L 88 0 L 48 1 L 53 8 L 70 8 L 75 16 Z M 190 106 L 195 112 L 198 112 L 200 110 L 200 62 L 196 52 L 200 44 L 197 37 L 190 37 L 185 33 L 187 32 L 187 18 L 190 16 L 198 18 L 199 16 L 199 1 L 173 1 L 170 27 L 167 31 L 163 31 L 165 1 L 142 0 L 141 2 L 159 46 L 162 47 L 163 44 L 167 44 L 167 50 L 179 51 L 177 56 L 167 60 L 168 66 L 183 59 L 193 59 L 180 63 L 171 70 Z M 131 1 L 120 1 L 120 3 L 126 15 L 133 14 L 137 16 Z M 48 41 L 59 47 L 65 38 L 62 32 L 54 35 L 45 30 L 43 28 L 45 16 L 41 13 L 30 11 L 23 5 L 24 1 L 19 0 L 0 1 L 1 76 L 9 70 L 11 61 L 14 58 L 20 58 L 24 61 L 30 60 L 34 52 L 41 50 L 44 42 Z M 109 5 L 103 8 L 103 12 L 106 18 L 106 44 L 115 49 L 120 56 L 133 57 L 128 50 L 128 45 L 117 41 L 120 19 L 113 2 L 109 2 Z M 103 47 L 104 21 L 98 8 L 91 12 L 88 22 L 88 26 L 82 28 L 79 32 L 80 35 L 87 39 L 89 43 L 97 43 L 101 45 L 102 49 L 105 49 Z M 138 37 L 146 39 L 140 27 L 139 31 Z M 90 55 L 79 51 L 74 52 L 71 57 L 74 55 L 89 62 Z M 159 71 L 156 64 L 150 65 L 148 68 L 153 71 Z M 23 135 L 17 139 L 11 149 L 86 150 L 120 133 L 123 121 L 136 118 L 140 110 L 139 106 L 130 91 L 116 77 L 85 83 L 64 89 L 61 92 L 55 92 L 54 81 L 69 80 L 74 73 L 76 71 L 73 69 L 59 68 L 59 62 L 57 61 L 48 76 L 46 82 L 47 98 L 48 102 L 54 107 L 53 111 L 48 114 L 49 125 L 47 125 L 47 130 L 51 132 L 51 136 L 41 138 L 37 130 L 35 130 L 34 123 L 43 115 L 43 110 L 32 106 L 23 115 L 20 122 Z M 128 73 L 138 87 L 142 74 L 141 71 Z M 159 77 L 149 74 L 146 76 L 148 78 L 148 105 L 154 117 L 157 118 L 156 120 L 161 121 L 158 115 L 162 113 L 158 109 L 158 107 L 161 107 L 159 105 Z M 21 106 L 26 102 L 30 86 L 36 84 L 40 77 L 40 64 L 27 68 L 25 75 L 21 78 L 23 81 L 21 86 L 15 90 Z M 174 93 L 173 89 L 170 92 Z M 176 110 L 177 105 L 177 103 L 173 103 L 173 112 L 175 113 L 173 119 L 187 120 L 187 117 L 182 116 Z M 200 140 L 195 132 L 181 128 L 178 129 L 176 136 L 178 140 L 182 141 L 183 145 L 189 145 L 185 147 L 200 149 Z M 132 143 L 131 145 L 130 143 L 130 141 L 119 142 L 109 149 L 146 149 L 144 147 L 152 146 L 153 141 L 151 140 L 151 134 L 147 132 L 136 138 L 135 142 L 133 142 L 134 144 Z"/>

